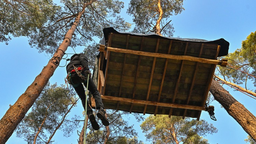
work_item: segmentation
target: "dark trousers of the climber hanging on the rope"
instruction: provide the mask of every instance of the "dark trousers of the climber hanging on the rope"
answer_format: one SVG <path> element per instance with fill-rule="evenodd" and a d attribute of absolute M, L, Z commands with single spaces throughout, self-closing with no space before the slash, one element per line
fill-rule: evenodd
<path fill-rule="evenodd" d="M 84 86 L 86 87 L 87 80 L 84 81 L 83 83 L 84 83 Z M 86 95 L 85 95 L 85 90 L 84 90 L 83 84 L 82 83 L 76 84 L 76 85 L 73 85 L 73 87 L 74 87 L 77 95 L 80 97 L 83 107 L 84 107 L 84 110 L 85 110 Z M 104 105 L 102 103 L 100 93 L 91 78 L 89 78 L 89 81 L 88 81 L 88 90 L 91 92 L 91 94 L 93 95 L 93 97 L 95 99 L 96 109 L 100 109 L 100 107 L 103 107 L 103 109 L 104 109 Z M 91 107 L 89 106 L 89 103 L 87 101 L 87 114 L 88 114 L 88 111 L 92 112 L 93 110 L 91 109 Z"/>

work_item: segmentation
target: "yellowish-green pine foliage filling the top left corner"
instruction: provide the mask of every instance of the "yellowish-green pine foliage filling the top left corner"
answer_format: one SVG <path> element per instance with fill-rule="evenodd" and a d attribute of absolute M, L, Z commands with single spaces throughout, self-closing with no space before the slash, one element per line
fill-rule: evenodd
<path fill-rule="evenodd" d="M 14 37 L 28 36 L 31 31 L 51 21 L 60 9 L 52 0 L 0 1 L 0 42 Z"/>

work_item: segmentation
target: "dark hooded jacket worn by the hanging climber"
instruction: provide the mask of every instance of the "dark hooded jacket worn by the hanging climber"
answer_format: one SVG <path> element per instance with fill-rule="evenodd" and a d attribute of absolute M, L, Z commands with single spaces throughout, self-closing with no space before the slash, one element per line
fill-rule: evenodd
<path fill-rule="evenodd" d="M 74 69 L 73 65 L 75 67 L 79 67 L 82 66 L 85 70 L 89 70 L 88 67 L 88 57 L 85 54 L 74 54 L 71 58 L 70 58 L 70 62 L 68 63 L 66 69 L 67 69 L 67 73 L 69 73 L 71 70 Z"/>

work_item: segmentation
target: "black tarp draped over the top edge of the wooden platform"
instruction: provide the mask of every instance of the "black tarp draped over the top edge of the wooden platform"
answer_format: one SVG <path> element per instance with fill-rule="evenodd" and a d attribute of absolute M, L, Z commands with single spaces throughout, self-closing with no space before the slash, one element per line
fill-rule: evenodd
<path fill-rule="evenodd" d="M 194 39 L 194 38 L 169 38 L 169 37 L 162 37 L 156 33 L 148 33 L 148 34 L 141 34 L 141 33 L 134 33 L 134 32 L 124 32 L 124 31 L 117 31 L 112 27 L 104 28 L 103 34 L 104 34 L 104 40 L 108 40 L 109 33 L 120 33 L 120 34 L 130 34 L 130 35 L 138 35 L 138 36 L 144 36 L 149 38 L 161 38 L 161 39 L 170 39 L 170 40 L 177 40 L 177 41 L 185 41 L 185 42 L 200 42 L 200 43 L 213 43 L 218 44 L 221 46 L 221 49 L 219 50 L 218 57 L 226 56 L 228 55 L 228 49 L 229 49 L 229 42 L 224 40 L 223 38 L 217 39 L 214 41 L 207 41 L 202 39 Z M 104 41 L 103 40 L 103 41 Z"/>

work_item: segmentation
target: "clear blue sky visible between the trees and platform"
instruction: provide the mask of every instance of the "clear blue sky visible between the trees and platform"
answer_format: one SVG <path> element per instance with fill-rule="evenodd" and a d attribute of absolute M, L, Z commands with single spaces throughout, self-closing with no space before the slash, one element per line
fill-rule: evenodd
<path fill-rule="evenodd" d="M 121 15 L 132 23 L 132 18 L 126 14 L 128 1 L 125 1 L 125 8 Z M 198 38 L 205 40 L 215 40 L 224 38 L 230 43 L 229 52 L 241 47 L 241 42 L 251 33 L 256 31 L 256 1 L 244 0 L 193 0 L 184 1 L 185 11 L 177 16 L 171 16 L 174 26 L 174 37 Z M 82 52 L 85 47 L 77 47 L 76 53 Z M 0 61 L 0 117 L 2 117 L 9 108 L 9 104 L 14 104 L 18 97 L 25 92 L 27 87 L 34 81 L 34 78 L 42 71 L 48 63 L 49 57 L 44 53 L 38 53 L 38 50 L 28 45 L 28 39 L 13 38 L 9 45 L 0 43 L 1 61 Z M 74 53 L 71 47 L 66 53 Z M 71 55 L 70 55 L 71 56 Z M 69 56 L 69 57 L 70 57 Z M 65 61 L 60 66 L 65 65 Z M 51 77 L 51 84 L 57 82 L 58 85 L 64 84 L 66 69 L 58 67 Z M 250 89 L 255 89 L 251 84 Z M 230 94 L 242 103 L 252 114 L 256 115 L 256 100 L 233 91 L 225 87 Z M 221 108 L 220 104 L 214 101 L 211 105 L 215 106 L 215 116 L 217 121 L 210 119 L 207 112 L 202 112 L 201 119 L 212 123 L 218 133 L 205 136 L 210 144 L 243 144 L 247 138 L 247 133 L 242 127 Z M 82 116 L 83 107 L 81 102 L 75 107 L 70 116 L 77 114 Z M 145 141 L 144 134 L 139 125 L 132 117 L 130 124 L 134 124 L 139 133 L 139 140 Z M 81 129 L 81 128 L 80 128 Z M 80 130 L 79 129 L 79 130 Z M 63 137 L 62 132 L 58 132 L 54 138 L 58 143 L 77 143 L 78 135 L 76 131 L 69 137 Z M 7 144 L 25 144 L 23 139 L 16 138 L 13 133 Z M 146 142 L 150 143 L 150 142 Z"/>

